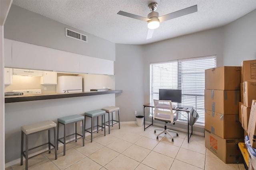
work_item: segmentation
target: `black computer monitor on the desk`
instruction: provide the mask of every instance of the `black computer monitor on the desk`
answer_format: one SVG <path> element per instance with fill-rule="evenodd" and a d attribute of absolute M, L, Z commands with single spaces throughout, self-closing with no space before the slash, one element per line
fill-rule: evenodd
<path fill-rule="evenodd" d="M 159 100 L 181 103 L 181 89 L 159 89 Z"/>

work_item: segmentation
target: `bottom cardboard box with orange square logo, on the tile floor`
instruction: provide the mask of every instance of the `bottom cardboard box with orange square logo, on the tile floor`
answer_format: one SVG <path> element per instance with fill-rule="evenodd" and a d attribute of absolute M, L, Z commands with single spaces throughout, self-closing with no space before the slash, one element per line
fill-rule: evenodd
<path fill-rule="evenodd" d="M 238 143 L 244 142 L 244 138 L 222 139 L 209 131 L 205 131 L 204 134 L 205 147 L 220 158 L 220 160 L 222 160 L 224 163 L 234 164 L 237 162 L 243 162 L 243 156 L 238 148 Z"/>

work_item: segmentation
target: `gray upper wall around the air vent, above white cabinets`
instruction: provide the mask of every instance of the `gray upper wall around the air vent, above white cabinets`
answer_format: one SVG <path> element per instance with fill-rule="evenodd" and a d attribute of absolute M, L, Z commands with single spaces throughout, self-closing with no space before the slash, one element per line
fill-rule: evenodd
<path fill-rule="evenodd" d="M 88 36 L 88 43 L 65 36 L 65 27 Z M 12 5 L 4 38 L 115 61 L 115 44 L 90 33 Z"/>

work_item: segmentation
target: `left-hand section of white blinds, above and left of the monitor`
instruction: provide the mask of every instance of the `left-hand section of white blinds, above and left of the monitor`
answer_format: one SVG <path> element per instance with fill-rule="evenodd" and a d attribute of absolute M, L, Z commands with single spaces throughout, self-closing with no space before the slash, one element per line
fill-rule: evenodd
<path fill-rule="evenodd" d="M 159 89 L 178 89 L 178 62 L 150 64 L 150 102 L 159 98 Z"/>

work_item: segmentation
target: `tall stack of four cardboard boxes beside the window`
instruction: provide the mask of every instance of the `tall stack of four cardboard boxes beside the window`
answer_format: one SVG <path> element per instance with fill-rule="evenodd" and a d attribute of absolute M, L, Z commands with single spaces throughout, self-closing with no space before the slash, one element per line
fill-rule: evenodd
<path fill-rule="evenodd" d="M 205 70 L 205 147 L 225 163 L 237 163 L 241 157 L 237 147 L 244 141 L 239 121 L 240 86 L 240 66 Z"/>

